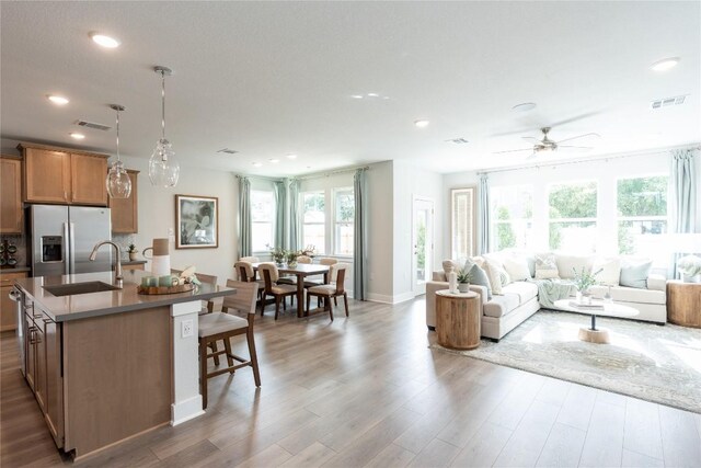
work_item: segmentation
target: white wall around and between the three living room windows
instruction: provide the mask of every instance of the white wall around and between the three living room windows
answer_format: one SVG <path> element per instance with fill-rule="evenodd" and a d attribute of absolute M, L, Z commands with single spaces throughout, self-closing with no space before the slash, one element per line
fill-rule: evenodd
<path fill-rule="evenodd" d="M 697 164 L 701 167 L 701 164 Z M 598 182 L 598 246 L 602 255 L 613 255 L 617 250 L 617 208 L 616 187 L 617 180 L 622 178 L 663 175 L 669 174 L 670 152 L 659 150 L 636 156 L 611 156 L 610 159 L 597 159 L 591 161 L 581 161 L 565 164 L 542 164 L 528 169 L 517 169 L 490 173 L 490 186 L 499 185 L 533 185 L 533 229 L 535 238 L 538 239 L 537 249 L 548 250 L 548 186 L 553 183 L 573 181 L 597 181 Z M 701 169 L 699 169 L 701 171 Z M 444 178 L 445 192 L 450 189 L 461 186 L 478 186 L 479 175 L 476 172 L 462 172 L 447 174 Z M 447 203 L 450 201 L 447 198 Z M 449 213 L 444 217 L 446 244 L 444 256 L 450 255 L 450 218 Z M 701 229 L 700 229 L 701 230 Z"/>

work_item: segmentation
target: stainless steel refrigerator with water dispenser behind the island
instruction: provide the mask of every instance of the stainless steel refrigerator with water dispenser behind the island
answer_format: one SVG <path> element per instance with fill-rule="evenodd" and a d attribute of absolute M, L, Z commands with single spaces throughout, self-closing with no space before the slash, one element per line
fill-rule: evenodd
<path fill-rule="evenodd" d="M 112 238 L 110 208 L 31 205 L 27 219 L 32 233 L 32 276 L 108 272 L 112 248 L 103 246 L 97 258 L 93 247 Z"/>

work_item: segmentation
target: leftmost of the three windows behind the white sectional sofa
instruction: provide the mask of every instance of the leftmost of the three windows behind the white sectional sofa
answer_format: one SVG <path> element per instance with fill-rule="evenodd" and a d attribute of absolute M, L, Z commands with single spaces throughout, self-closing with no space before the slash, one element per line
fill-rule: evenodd
<path fill-rule="evenodd" d="M 509 185 L 490 190 L 491 248 L 526 249 L 532 246 L 533 186 Z"/>

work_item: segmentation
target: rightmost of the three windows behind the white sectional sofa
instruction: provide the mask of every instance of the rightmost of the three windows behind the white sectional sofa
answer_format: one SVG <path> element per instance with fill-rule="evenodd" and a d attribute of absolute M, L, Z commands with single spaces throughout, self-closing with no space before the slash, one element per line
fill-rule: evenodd
<path fill-rule="evenodd" d="M 667 232 L 667 184 L 665 175 L 618 181 L 619 253 L 659 256 L 659 235 Z"/>

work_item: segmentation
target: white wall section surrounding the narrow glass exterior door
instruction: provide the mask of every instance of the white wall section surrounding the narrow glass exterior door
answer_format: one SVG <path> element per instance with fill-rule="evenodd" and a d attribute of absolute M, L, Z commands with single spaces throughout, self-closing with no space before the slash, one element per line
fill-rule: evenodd
<path fill-rule="evenodd" d="M 403 161 L 393 163 L 392 217 L 393 230 L 393 301 L 407 300 L 414 297 L 412 261 L 414 248 L 413 209 L 414 198 L 427 198 L 434 203 L 434 255 L 430 271 L 437 270 L 443 261 L 444 237 L 443 222 L 445 212 L 445 194 L 443 175 L 429 172 Z"/>

